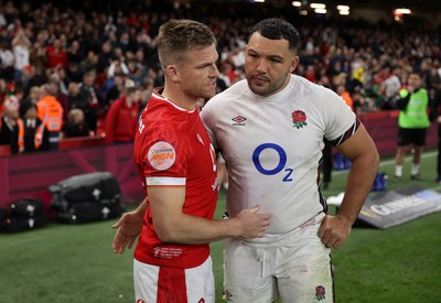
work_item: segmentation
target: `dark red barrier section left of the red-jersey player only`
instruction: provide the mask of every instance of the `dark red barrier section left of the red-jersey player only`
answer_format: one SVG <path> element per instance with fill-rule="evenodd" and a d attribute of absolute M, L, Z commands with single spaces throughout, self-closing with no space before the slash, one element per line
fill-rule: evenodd
<path fill-rule="evenodd" d="M 132 160 L 132 144 L 90 147 L 88 141 L 86 148 L 78 148 L 80 143 L 72 144 L 76 148 L 0 158 L 0 205 L 34 197 L 41 198 L 47 209 L 52 198 L 50 185 L 74 175 L 101 171 L 116 176 L 122 202 L 138 203 L 143 198 Z"/>

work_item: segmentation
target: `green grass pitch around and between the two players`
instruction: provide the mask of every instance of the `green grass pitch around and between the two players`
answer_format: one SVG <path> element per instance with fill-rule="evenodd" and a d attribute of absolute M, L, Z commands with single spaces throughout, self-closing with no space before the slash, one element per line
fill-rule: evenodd
<path fill-rule="evenodd" d="M 412 183 L 409 163 L 407 159 L 404 178 L 395 182 L 394 161 L 381 162 L 380 171 L 389 176 L 388 190 Z M 434 167 L 435 153 L 426 153 L 424 181 L 419 184 L 441 192 Z M 345 177 L 345 172 L 334 172 L 324 195 L 342 192 Z M 217 218 L 224 208 L 225 196 L 220 196 Z M 132 251 L 114 255 L 111 224 L 51 224 L 22 234 L 1 234 L 0 302 L 133 302 Z M 441 213 L 386 230 L 354 228 L 343 247 L 333 251 L 336 302 L 440 302 L 440 228 Z M 212 244 L 216 302 L 222 297 L 222 242 Z"/>

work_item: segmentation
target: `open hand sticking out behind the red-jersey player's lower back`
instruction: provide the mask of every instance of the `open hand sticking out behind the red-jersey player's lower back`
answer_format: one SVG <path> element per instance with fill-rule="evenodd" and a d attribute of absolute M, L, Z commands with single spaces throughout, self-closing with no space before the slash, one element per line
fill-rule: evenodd
<path fill-rule="evenodd" d="M 148 206 L 148 197 L 142 201 L 137 209 L 123 214 L 119 220 L 111 226 L 117 229 L 111 245 L 115 253 L 123 253 L 126 248 L 131 249 L 138 236 L 141 234 L 142 220 Z"/>

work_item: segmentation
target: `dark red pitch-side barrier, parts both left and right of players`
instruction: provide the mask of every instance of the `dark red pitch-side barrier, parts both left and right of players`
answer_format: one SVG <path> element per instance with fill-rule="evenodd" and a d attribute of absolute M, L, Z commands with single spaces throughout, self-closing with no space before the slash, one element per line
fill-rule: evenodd
<path fill-rule="evenodd" d="M 374 139 L 381 158 L 391 156 L 397 148 L 398 111 L 380 111 L 359 116 Z M 427 149 L 438 142 L 437 126 L 428 131 Z M 103 137 L 63 139 L 58 151 L 10 155 L 8 147 L 0 148 L 0 205 L 22 197 L 41 198 L 47 206 L 47 187 L 73 175 L 108 171 L 121 186 L 122 202 L 143 198 L 140 180 L 132 160 L 132 144 L 106 145 Z"/>

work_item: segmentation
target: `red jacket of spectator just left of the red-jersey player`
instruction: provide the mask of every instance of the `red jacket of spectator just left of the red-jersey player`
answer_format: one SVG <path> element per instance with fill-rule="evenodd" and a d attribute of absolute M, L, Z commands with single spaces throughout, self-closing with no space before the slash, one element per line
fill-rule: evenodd
<path fill-rule="evenodd" d="M 106 142 L 131 142 L 138 123 L 139 104 L 132 102 L 127 106 L 126 96 L 111 104 L 106 116 Z"/>

